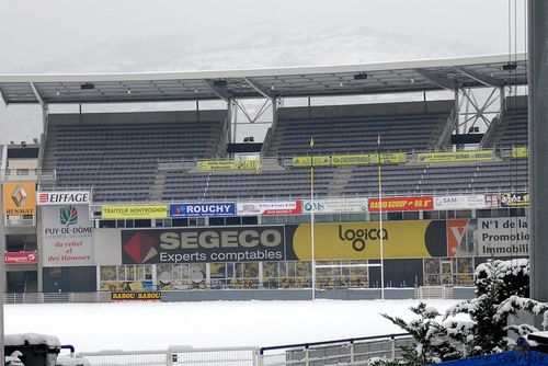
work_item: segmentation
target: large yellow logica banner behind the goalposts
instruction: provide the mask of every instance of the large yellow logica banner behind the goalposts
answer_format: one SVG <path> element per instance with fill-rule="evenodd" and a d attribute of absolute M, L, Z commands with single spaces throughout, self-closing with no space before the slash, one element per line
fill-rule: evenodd
<path fill-rule="evenodd" d="M 446 224 L 443 220 L 340 222 L 315 225 L 317 261 L 377 260 L 383 238 L 385 259 L 443 256 L 447 253 Z M 293 249 L 302 261 L 311 258 L 310 225 L 299 225 Z"/>

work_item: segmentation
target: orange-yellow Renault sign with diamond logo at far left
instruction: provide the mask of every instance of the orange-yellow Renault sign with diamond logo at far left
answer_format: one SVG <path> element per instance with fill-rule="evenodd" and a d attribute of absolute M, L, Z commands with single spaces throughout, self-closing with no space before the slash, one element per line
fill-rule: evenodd
<path fill-rule="evenodd" d="M 3 184 L 4 215 L 35 215 L 36 214 L 36 183 L 8 182 Z"/>

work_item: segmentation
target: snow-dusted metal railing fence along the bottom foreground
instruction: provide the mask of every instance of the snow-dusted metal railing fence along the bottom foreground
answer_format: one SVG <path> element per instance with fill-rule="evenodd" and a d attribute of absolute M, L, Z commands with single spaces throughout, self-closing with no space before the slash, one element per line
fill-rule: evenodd
<path fill-rule="evenodd" d="M 171 346 L 161 351 L 101 351 L 78 353 L 92 366 L 323 366 L 367 365 L 369 358 L 396 359 L 411 345 L 408 333 L 269 347 L 193 348 Z M 61 355 L 59 359 L 73 357 Z"/>

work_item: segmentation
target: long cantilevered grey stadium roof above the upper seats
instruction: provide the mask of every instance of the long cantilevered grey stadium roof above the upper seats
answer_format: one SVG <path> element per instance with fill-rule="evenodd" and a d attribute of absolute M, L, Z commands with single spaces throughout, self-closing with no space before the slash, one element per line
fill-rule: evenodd
<path fill-rule="evenodd" d="M 117 103 L 328 96 L 527 83 L 526 54 L 248 70 L 0 75 L 12 103 Z"/>

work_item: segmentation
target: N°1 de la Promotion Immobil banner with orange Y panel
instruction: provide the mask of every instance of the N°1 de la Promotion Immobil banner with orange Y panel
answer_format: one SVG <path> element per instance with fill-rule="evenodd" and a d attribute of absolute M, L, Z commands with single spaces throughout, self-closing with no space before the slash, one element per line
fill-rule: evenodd
<path fill-rule="evenodd" d="M 449 256 L 528 255 L 526 217 L 447 220 Z"/>

